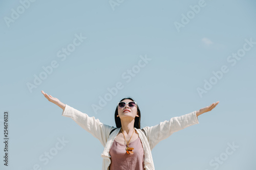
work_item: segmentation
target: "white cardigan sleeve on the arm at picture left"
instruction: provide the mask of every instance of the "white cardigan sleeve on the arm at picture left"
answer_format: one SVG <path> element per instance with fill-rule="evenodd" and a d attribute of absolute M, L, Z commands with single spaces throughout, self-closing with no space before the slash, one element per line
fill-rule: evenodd
<path fill-rule="evenodd" d="M 94 116 L 90 117 L 86 113 L 82 113 L 67 104 L 62 111 L 62 116 L 72 118 L 80 127 L 99 139 L 103 147 L 105 147 L 110 130 L 113 127 L 105 125 L 99 119 L 95 119 Z"/>

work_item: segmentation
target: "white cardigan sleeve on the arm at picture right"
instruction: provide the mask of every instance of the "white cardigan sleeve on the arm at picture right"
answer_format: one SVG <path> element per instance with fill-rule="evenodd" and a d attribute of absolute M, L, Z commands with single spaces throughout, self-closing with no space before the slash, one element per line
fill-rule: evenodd
<path fill-rule="evenodd" d="M 160 124 L 152 127 L 144 127 L 148 143 L 151 150 L 158 142 L 166 139 L 174 132 L 182 130 L 191 125 L 199 124 L 196 111 L 177 117 L 172 117 L 170 120 L 165 120 Z"/>

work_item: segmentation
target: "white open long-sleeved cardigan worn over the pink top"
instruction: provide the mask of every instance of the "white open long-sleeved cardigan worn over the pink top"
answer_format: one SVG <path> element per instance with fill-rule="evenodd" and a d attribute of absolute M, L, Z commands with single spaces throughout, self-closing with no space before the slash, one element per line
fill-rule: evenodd
<path fill-rule="evenodd" d="M 99 139 L 104 147 L 101 157 L 103 158 L 102 170 L 109 170 L 111 163 L 110 160 L 110 148 L 121 128 L 114 130 L 111 135 L 110 132 L 115 127 L 105 125 L 99 122 L 99 119 L 95 117 L 89 117 L 86 113 L 82 113 L 79 110 L 74 109 L 66 104 L 65 109 L 62 112 L 62 116 L 72 118 L 80 127 L 91 133 L 94 137 Z M 174 132 L 182 130 L 188 126 L 199 124 L 196 111 L 173 117 L 170 120 L 165 120 L 160 124 L 152 127 L 144 127 L 145 134 L 141 129 L 135 128 L 139 134 L 139 138 L 142 141 L 142 147 L 144 149 L 144 168 L 145 170 L 154 170 L 154 162 L 151 151 L 158 142 L 166 139 Z"/>

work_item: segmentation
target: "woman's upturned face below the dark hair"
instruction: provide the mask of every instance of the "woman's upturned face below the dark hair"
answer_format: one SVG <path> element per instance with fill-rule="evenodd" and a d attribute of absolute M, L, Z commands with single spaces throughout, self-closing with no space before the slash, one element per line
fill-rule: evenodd
<path fill-rule="evenodd" d="M 125 99 L 123 100 L 122 102 L 125 102 L 125 103 L 129 103 L 129 102 L 133 102 L 132 100 L 130 99 Z M 128 104 L 126 104 L 124 106 L 124 108 L 119 108 L 118 107 L 118 116 L 121 118 L 135 118 L 136 116 L 139 117 L 139 115 L 137 115 L 138 111 L 137 111 L 137 106 L 133 107 L 133 108 L 130 108 Z"/>

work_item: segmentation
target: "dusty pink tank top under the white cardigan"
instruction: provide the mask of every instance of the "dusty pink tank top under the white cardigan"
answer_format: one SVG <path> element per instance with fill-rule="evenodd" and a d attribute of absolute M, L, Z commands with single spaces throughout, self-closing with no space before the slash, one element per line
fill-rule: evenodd
<path fill-rule="evenodd" d="M 127 154 L 126 147 L 127 144 L 119 143 L 114 139 L 110 148 L 110 170 L 143 170 L 144 150 L 140 138 L 129 143 L 129 147 L 134 148 L 134 154 Z"/>

